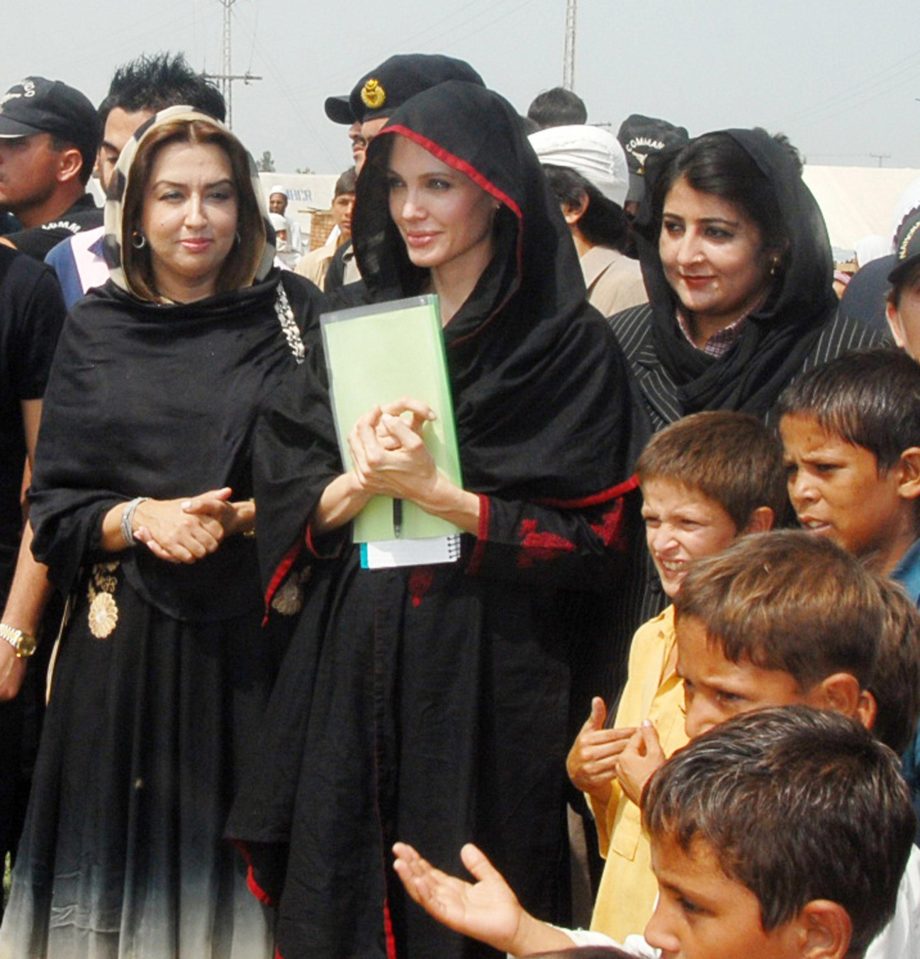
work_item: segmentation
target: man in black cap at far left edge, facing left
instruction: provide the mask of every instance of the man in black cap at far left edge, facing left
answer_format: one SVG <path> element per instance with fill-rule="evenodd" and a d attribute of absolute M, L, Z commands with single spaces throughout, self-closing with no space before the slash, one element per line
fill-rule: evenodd
<path fill-rule="evenodd" d="M 95 107 L 60 80 L 26 77 L 0 97 L 0 210 L 22 230 L 0 238 L 44 259 L 56 243 L 102 223 L 85 193 L 99 146 Z"/>

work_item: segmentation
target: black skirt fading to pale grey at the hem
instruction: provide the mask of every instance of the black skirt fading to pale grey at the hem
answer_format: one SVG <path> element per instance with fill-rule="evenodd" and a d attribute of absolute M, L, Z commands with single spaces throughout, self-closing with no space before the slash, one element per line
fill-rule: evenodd
<path fill-rule="evenodd" d="M 61 640 L 0 956 L 268 959 L 222 839 L 282 641 L 166 616 L 92 567 Z"/>

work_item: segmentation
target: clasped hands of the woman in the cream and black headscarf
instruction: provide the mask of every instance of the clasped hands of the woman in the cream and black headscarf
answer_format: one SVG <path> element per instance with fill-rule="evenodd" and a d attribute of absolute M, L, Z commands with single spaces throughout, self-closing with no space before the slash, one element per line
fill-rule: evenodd
<path fill-rule="evenodd" d="M 225 486 L 186 499 L 145 500 L 134 513 L 134 538 L 168 563 L 195 563 L 244 528 L 253 504 L 231 502 L 232 493 Z"/>

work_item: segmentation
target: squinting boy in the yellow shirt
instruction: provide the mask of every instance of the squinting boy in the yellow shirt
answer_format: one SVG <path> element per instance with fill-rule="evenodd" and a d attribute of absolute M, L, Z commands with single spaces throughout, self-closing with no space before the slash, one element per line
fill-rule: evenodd
<path fill-rule="evenodd" d="M 649 553 L 672 599 L 692 561 L 742 532 L 770 529 L 786 507 L 780 446 L 745 413 L 696 413 L 672 423 L 651 438 L 636 471 Z M 686 743 L 676 658 L 669 607 L 633 637 L 614 728 L 604 728 L 606 706 L 595 698 L 567 761 L 573 784 L 588 796 L 606 859 L 591 928 L 618 940 L 644 928 L 657 895 L 638 795 L 617 777 L 619 756 L 645 721 L 654 723 L 666 755 Z"/>

